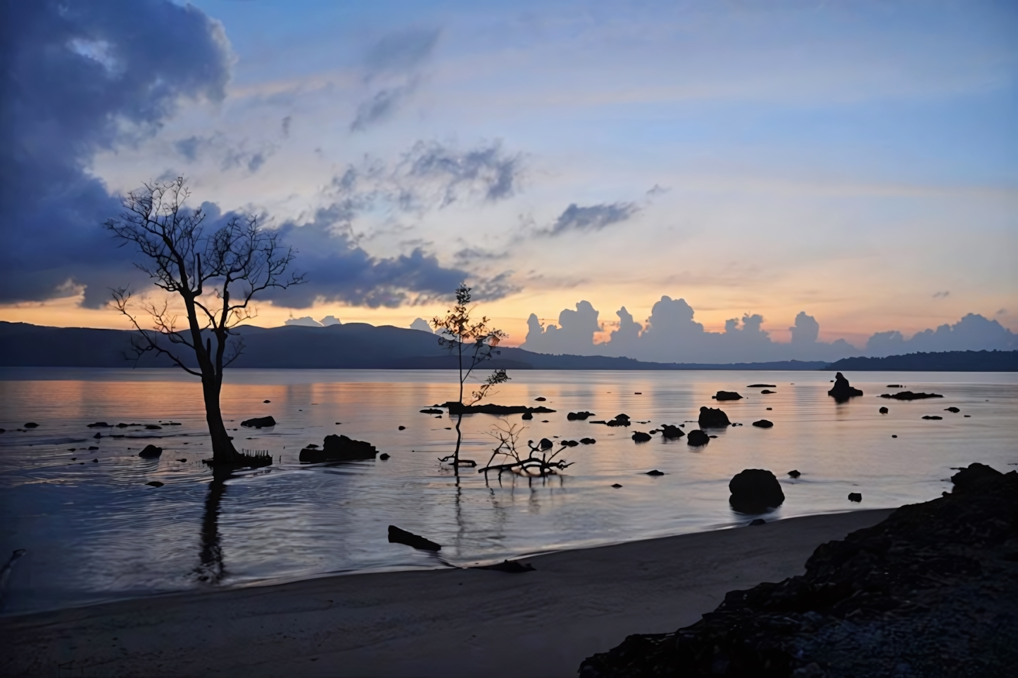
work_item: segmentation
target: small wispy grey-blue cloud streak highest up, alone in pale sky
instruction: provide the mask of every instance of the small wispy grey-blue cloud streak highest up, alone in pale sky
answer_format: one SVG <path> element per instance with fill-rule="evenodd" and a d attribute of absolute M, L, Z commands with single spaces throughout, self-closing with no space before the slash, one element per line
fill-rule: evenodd
<path fill-rule="evenodd" d="M 389 119 L 410 99 L 440 33 L 436 28 L 401 30 L 383 37 L 367 50 L 363 78 L 371 94 L 357 106 L 351 131 L 363 131 Z"/>

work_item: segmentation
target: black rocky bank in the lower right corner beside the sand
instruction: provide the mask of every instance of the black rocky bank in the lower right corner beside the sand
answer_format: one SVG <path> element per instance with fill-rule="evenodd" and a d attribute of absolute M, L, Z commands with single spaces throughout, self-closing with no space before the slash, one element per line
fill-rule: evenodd
<path fill-rule="evenodd" d="M 580 676 L 1018 676 L 1018 473 L 973 464 L 951 480 L 822 545 L 804 575 L 630 635 Z"/>

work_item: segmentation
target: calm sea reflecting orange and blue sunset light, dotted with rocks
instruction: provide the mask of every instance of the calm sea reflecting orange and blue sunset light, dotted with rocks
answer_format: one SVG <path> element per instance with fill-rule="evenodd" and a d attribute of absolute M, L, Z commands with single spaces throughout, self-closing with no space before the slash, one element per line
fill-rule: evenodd
<path fill-rule="evenodd" d="M 448 417 L 419 410 L 455 397 L 444 371 L 234 370 L 223 412 L 238 447 L 276 459 L 257 473 L 212 482 L 201 390 L 174 370 L 0 369 L 0 559 L 26 549 L 9 572 L 5 614 L 211 585 L 238 585 L 329 572 L 444 567 L 557 549 L 745 525 L 728 505 L 728 482 L 769 469 L 786 501 L 777 519 L 853 508 L 899 506 L 950 489 L 952 467 L 1018 464 L 1018 374 L 848 374 L 865 395 L 838 405 L 826 372 L 516 371 L 491 402 L 556 410 L 526 424 L 523 438 L 593 437 L 568 449 L 574 463 L 546 480 L 457 477 L 438 457 L 454 431 Z M 748 384 L 774 384 L 761 394 Z M 943 398 L 878 397 L 887 384 Z M 721 407 L 744 426 L 712 431 L 701 448 L 685 439 L 634 443 L 633 431 L 695 420 L 719 389 L 745 398 Z M 271 403 L 264 403 L 271 400 Z M 890 414 L 880 415 L 881 406 Z M 946 412 L 957 407 L 960 412 Z M 566 421 L 625 413 L 629 429 Z M 272 415 L 254 431 L 241 419 Z M 923 420 L 924 415 L 943 417 Z M 968 415 L 968 417 L 966 417 Z M 767 418 L 772 429 L 751 426 Z M 547 422 L 543 420 L 548 420 Z M 95 439 L 87 425 L 128 429 Z M 499 419 L 464 418 L 463 456 L 486 461 Z M 39 427 L 15 429 L 27 422 Z M 649 422 L 646 424 L 636 422 Z M 405 426 L 404 430 L 398 427 Z M 686 424 L 686 430 L 696 428 Z M 124 431 L 118 431 L 122 433 Z M 297 453 L 331 433 L 367 440 L 388 460 L 301 466 Z M 138 436 L 160 437 L 138 437 Z M 897 437 L 892 437 L 897 435 Z M 136 453 L 162 446 L 158 460 Z M 98 447 L 89 450 L 90 446 Z M 71 448 L 74 448 L 73 451 Z M 94 459 L 98 459 L 94 461 Z M 665 475 L 652 477 L 657 469 Z M 787 472 L 802 475 L 792 480 Z M 150 481 L 165 485 L 154 488 Z M 613 484 L 622 485 L 613 488 Z M 850 503 L 849 492 L 862 494 Z M 442 544 L 439 554 L 389 544 L 396 525 Z"/>

